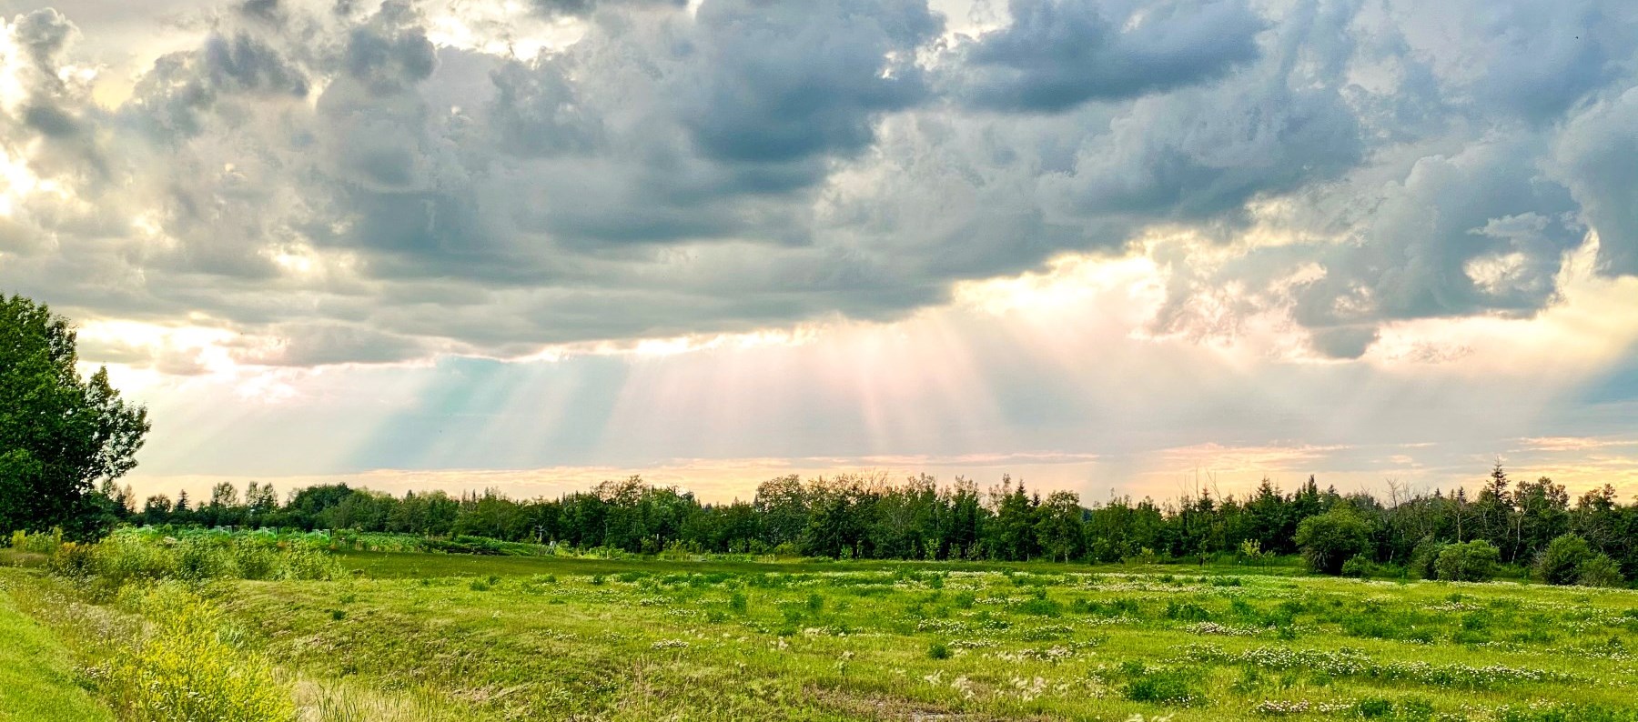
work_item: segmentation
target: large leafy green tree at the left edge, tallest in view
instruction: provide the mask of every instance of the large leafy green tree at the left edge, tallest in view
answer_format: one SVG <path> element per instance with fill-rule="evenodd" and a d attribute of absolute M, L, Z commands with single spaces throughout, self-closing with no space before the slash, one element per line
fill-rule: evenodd
<path fill-rule="evenodd" d="M 147 409 L 120 399 L 108 368 L 82 378 L 77 363 L 67 319 L 0 296 L 0 530 L 97 535 L 80 524 L 103 517 L 88 512 L 88 493 L 136 467 Z"/>

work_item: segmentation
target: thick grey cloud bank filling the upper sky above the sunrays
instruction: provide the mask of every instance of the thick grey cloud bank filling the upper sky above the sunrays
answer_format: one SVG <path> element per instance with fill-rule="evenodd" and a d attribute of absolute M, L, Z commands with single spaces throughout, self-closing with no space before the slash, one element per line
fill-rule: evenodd
<path fill-rule="evenodd" d="M 1076 252 L 1165 257 L 1153 331 L 1351 359 L 1638 272 L 1623 2 L 115 5 L 13 3 L 0 287 L 252 363 L 891 319 Z"/>

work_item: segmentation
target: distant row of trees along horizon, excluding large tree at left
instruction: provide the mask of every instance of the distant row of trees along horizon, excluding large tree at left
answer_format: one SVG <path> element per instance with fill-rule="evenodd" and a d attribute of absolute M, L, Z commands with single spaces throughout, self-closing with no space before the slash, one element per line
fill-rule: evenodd
<path fill-rule="evenodd" d="M 1405 493 L 1387 498 L 1320 488 L 1314 476 L 1292 491 L 1263 480 L 1250 494 L 1197 491 L 1171 501 L 1111 498 L 1083 504 L 1073 491 L 1042 496 L 1002 476 L 986 490 L 966 478 L 891 481 L 881 475 L 801 480 L 780 476 L 750 501 L 701 503 L 639 476 L 604 481 L 555 499 L 511 499 L 496 491 L 382 491 L 318 485 L 280 503 L 270 485 L 244 494 L 228 483 L 210 499 L 151 496 L 105 485 L 105 522 L 351 529 L 431 537 L 475 535 L 514 542 L 611 547 L 631 553 L 668 548 L 717 553 L 791 553 L 883 560 L 1199 560 L 1312 552 L 1304 534 L 1343 534 L 1346 544 L 1315 568 L 1348 560 L 1432 568 L 1443 545 L 1484 542 L 1495 562 L 1528 566 L 1559 537 L 1576 535 L 1638 576 L 1638 504 L 1609 485 L 1571 499 L 1550 478 L 1510 480 L 1497 465 L 1476 494 Z M 1304 522 L 1314 517 L 1325 524 Z M 1337 532 L 1333 521 L 1346 524 Z M 1346 558 L 1338 558 L 1343 555 Z"/>

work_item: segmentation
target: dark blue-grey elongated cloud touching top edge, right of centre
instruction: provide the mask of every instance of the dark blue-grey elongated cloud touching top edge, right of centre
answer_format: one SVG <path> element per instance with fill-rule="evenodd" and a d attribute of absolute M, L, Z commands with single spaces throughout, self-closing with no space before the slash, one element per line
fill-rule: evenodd
<path fill-rule="evenodd" d="M 1258 56 L 1265 23 L 1242 0 L 1148 5 L 1012 0 L 1012 23 L 950 69 L 975 108 L 1061 111 L 1219 79 Z"/>

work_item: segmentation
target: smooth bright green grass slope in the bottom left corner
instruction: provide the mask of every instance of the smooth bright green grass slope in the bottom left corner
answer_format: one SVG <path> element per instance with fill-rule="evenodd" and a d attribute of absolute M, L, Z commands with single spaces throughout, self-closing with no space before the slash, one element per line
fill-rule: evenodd
<path fill-rule="evenodd" d="M 0 591 L 0 720 L 113 720 L 74 684 L 72 663 L 49 632 L 18 612 Z"/>

